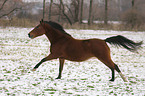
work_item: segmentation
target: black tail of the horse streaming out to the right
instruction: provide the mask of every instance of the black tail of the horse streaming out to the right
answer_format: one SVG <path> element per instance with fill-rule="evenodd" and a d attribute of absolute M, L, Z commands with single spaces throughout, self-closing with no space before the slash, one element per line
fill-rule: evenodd
<path fill-rule="evenodd" d="M 135 43 L 134 41 L 129 40 L 126 37 L 123 37 L 121 35 L 106 38 L 105 42 L 108 42 L 110 44 L 114 44 L 114 45 L 119 46 L 119 47 L 124 47 L 132 52 L 137 51 L 137 49 L 140 48 L 141 45 L 143 44 L 142 41 L 139 43 Z"/>

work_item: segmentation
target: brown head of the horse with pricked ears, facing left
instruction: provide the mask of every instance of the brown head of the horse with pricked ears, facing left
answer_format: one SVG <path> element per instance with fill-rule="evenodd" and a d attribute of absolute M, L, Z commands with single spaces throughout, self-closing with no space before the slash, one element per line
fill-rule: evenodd
<path fill-rule="evenodd" d="M 43 20 L 40 21 L 40 24 L 37 25 L 30 33 L 28 34 L 29 38 L 33 39 L 35 37 L 41 36 L 45 34 L 45 29 L 44 29 L 44 22 Z"/>

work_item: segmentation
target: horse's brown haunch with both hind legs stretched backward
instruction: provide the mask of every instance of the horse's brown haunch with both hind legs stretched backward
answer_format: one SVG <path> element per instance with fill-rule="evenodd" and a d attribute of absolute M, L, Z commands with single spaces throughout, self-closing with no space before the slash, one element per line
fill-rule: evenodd
<path fill-rule="evenodd" d="M 110 56 L 110 49 L 107 46 L 107 44 L 100 43 L 99 45 L 93 45 L 92 50 L 93 50 L 92 52 L 94 56 L 97 57 L 101 62 L 103 62 L 106 66 L 108 66 L 111 69 L 112 78 L 110 81 L 115 80 L 115 70 L 119 73 L 119 75 L 125 82 L 127 81 L 126 78 L 121 73 L 119 67 L 112 61 L 111 56 Z"/>

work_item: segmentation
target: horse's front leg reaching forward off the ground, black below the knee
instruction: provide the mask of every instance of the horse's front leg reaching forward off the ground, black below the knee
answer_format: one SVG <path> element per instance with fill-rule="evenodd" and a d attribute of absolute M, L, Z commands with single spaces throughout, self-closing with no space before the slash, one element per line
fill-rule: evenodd
<path fill-rule="evenodd" d="M 43 62 L 56 59 L 57 57 L 53 54 L 48 55 L 47 57 L 43 58 L 34 68 L 32 71 L 35 71 Z"/>

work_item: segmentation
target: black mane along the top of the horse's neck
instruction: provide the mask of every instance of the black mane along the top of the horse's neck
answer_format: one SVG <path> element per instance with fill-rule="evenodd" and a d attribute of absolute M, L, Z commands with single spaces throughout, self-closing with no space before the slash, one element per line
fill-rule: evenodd
<path fill-rule="evenodd" d="M 60 24 L 58 24 L 58 23 L 56 23 L 56 22 L 53 22 L 53 21 L 49 21 L 49 22 L 48 22 L 48 21 L 44 21 L 44 23 L 47 23 L 47 24 L 49 24 L 51 27 L 53 27 L 53 28 L 55 28 L 55 29 L 57 29 L 57 30 L 63 32 L 64 34 L 67 34 L 67 35 L 71 36 L 70 34 L 66 33 L 66 31 L 63 29 L 63 27 L 62 27 Z"/>

